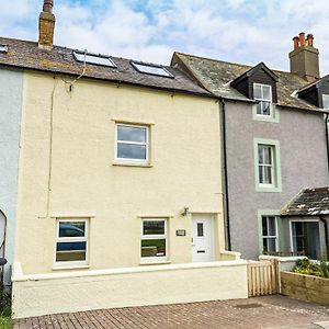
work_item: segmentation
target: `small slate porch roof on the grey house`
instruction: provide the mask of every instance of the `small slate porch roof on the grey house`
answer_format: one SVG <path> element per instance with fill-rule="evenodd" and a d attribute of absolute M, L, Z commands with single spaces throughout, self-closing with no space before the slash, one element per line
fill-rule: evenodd
<path fill-rule="evenodd" d="M 305 189 L 281 209 L 281 216 L 329 216 L 329 188 Z"/>

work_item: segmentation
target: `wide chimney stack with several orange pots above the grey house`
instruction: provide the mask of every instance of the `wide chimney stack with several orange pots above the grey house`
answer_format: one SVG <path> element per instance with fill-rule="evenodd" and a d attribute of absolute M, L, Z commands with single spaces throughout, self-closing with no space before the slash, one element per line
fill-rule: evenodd
<path fill-rule="evenodd" d="M 313 46 L 313 34 L 307 34 L 305 39 L 305 33 L 302 32 L 293 41 L 294 50 L 290 53 L 291 72 L 309 82 L 319 79 L 319 50 Z"/>

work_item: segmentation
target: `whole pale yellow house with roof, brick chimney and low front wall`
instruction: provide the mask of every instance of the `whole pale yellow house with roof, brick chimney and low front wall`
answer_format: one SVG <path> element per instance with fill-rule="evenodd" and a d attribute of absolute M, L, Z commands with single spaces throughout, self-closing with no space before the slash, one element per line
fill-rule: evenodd
<path fill-rule="evenodd" d="M 23 72 L 14 317 L 247 297 L 218 101 L 179 69 L 0 38 Z"/>

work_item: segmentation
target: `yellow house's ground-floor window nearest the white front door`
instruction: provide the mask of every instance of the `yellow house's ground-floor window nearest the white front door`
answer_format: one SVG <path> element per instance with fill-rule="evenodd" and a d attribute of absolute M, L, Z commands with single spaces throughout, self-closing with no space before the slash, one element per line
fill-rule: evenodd
<path fill-rule="evenodd" d="M 140 259 L 168 260 L 167 218 L 141 219 Z"/>

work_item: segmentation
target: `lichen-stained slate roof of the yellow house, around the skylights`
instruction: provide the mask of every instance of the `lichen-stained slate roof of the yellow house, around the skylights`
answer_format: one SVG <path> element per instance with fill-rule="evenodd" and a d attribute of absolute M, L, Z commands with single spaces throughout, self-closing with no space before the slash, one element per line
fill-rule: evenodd
<path fill-rule="evenodd" d="M 15 67 L 54 73 L 80 76 L 83 63 L 75 60 L 72 49 L 54 46 L 52 50 L 41 49 L 35 42 L 0 37 L 1 45 L 8 45 L 8 53 L 0 53 L 0 67 Z M 191 80 L 183 71 L 164 66 L 174 78 L 138 72 L 129 59 L 112 57 L 117 68 L 87 64 L 84 77 L 137 84 L 143 87 L 212 97 L 209 92 Z"/>

